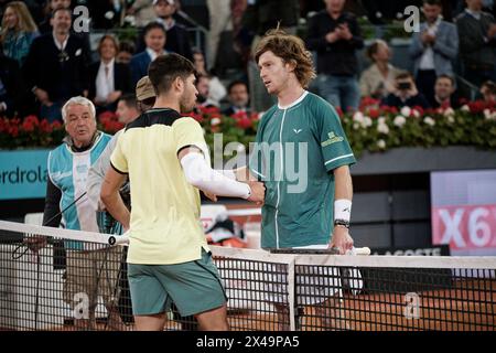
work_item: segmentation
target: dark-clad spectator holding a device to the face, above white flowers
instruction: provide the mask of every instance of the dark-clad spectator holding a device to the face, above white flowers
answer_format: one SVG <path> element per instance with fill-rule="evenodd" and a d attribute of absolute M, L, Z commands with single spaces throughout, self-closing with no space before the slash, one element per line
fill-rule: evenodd
<path fill-rule="evenodd" d="M 395 92 L 389 94 L 382 99 L 382 104 L 389 107 L 422 107 L 424 109 L 430 108 L 429 101 L 425 97 L 419 93 L 412 74 L 409 72 L 401 72 L 395 79 Z"/>

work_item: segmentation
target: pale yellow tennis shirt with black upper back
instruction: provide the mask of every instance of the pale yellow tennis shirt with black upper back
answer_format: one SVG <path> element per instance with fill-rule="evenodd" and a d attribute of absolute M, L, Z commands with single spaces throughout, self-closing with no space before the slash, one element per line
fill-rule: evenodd
<path fill-rule="evenodd" d="M 177 153 L 188 146 L 208 150 L 200 124 L 172 109 L 151 109 L 126 127 L 110 162 L 129 174 L 129 264 L 170 265 L 208 250 L 200 222 L 200 193 L 184 175 Z"/>

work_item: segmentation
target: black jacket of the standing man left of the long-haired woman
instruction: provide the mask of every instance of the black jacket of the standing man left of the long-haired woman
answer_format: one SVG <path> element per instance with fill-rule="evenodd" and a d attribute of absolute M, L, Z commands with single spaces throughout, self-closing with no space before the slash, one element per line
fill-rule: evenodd
<path fill-rule="evenodd" d="M 80 38 L 71 34 L 65 51 L 61 52 L 52 33 L 39 36 L 23 68 L 28 87 L 46 90 L 51 101 L 79 96 L 89 88 L 88 61 L 87 46 Z"/>

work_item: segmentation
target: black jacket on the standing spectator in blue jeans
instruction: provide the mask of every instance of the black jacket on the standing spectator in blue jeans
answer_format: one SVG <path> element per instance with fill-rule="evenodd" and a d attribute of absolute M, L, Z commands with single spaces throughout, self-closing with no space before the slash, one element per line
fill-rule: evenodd
<path fill-rule="evenodd" d="M 348 24 L 353 39 L 328 43 L 325 35 L 342 23 Z M 353 14 L 343 12 L 337 20 L 334 20 L 326 10 L 315 14 L 310 19 L 306 46 L 317 53 L 319 74 L 347 76 L 357 74 L 358 60 L 355 52 L 364 47 L 364 40 L 358 22 Z"/>

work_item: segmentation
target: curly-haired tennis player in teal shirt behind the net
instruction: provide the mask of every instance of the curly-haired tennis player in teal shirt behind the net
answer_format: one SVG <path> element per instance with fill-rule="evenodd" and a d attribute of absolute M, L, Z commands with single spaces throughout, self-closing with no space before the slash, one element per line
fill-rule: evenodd
<path fill-rule="evenodd" d="M 265 182 L 261 247 L 336 247 L 345 254 L 353 248 L 349 165 L 356 160 L 334 107 L 305 90 L 315 77 L 311 53 L 301 39 L 273 30 L 259 42 L 255 58 L 278 103 L 261 118 L 248 168 L 235 174 Z M 331 284 L 321 287 L 323 297 L 336 295 Z M 289 329 L 288 304 L 271 301 L 280 328 Z M 330 300 L 322 306 L 335 307 Z M 335 312 L 322 312 L 328 315 Z"/>

